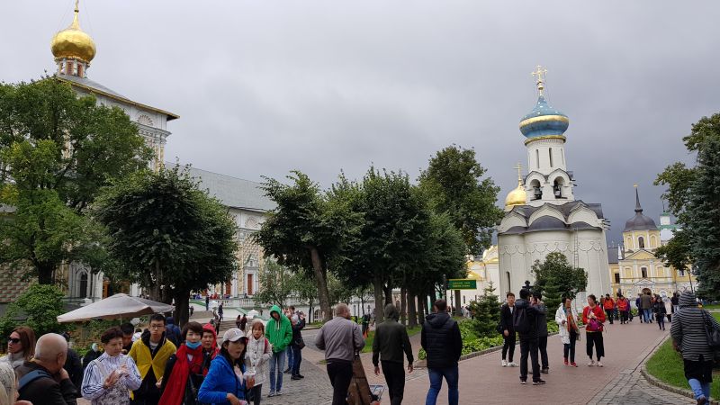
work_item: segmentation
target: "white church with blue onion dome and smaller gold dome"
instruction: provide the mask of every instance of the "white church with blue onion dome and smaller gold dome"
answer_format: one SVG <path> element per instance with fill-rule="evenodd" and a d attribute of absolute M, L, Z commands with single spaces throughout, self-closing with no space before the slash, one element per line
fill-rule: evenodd
<path fill-rule="evenodd" d="M 518 293 L 529 281 L 531 267 L 551 252 L 562 252 L 572 266 L 588 274 L 586 293 L 610 293 L 608 248 L 599 203 L 575 200 L 572 172 L 567 170 L 565 131 L 570 120 L 545 100 L 545 73 L 537 67 L 535 108 L 520 120 L 527 148 L 527 175 L 519 172 L 518 187 L 505 200 L 498 227 L 499 293 Z M 585 294 L 579 294 L 584 300 Z"/>

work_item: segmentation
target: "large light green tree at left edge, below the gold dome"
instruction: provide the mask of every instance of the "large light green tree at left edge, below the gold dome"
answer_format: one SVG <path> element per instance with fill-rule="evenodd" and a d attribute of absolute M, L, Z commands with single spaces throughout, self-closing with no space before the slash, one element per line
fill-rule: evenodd
<path fill-rule="evenodd" d="M 103 253 L 84 213 L 101 187 L 147 166 L 151 153 L 120 108 L 55 78 L 0 84 L 0 204 L 13 207 L 0 220 L 0 263 L 51 284 L 64 261 Z"/>

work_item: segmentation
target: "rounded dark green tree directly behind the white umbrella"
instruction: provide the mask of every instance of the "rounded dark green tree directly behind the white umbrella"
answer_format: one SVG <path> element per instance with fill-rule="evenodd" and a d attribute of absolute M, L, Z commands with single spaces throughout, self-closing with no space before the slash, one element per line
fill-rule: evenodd
<path fill-rule="evenodd" d="M 179 166 L 130 175 L 106 188 L 96 206 L 121 264 L 113 276 L 175 301 L 180 325 L 191 291 L 226 283 L 236 271 L 234 220 Z"/>

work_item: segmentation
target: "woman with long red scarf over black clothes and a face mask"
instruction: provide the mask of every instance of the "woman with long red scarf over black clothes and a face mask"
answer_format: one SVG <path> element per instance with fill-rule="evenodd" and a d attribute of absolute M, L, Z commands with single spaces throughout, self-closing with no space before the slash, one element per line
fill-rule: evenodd
<path fill-rule="evenodd" d="M 187 322 L 181 332 L 184 343 L 175 355 L 167 359 L 165 373 L 160 385 L 162 396 L 158 405 L 194 405 L 197 402 L 197 390 L 204 379 L 202 364 L 202 325 Z"/>

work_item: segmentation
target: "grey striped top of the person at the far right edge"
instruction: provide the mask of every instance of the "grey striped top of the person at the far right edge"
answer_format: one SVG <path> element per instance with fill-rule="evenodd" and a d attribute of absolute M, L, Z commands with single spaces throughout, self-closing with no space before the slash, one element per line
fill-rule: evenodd
<path fill-rule="evenodd" d="M 697 306 L 687 306 L 680 307 L 680 310 L 672 315 L 670 334 L 680 347 L 684 359 L 697 362 L 702 355 L 705 361 L 709 361 L 715 355 L 715 351 L 707 346 L 703 312 L 707 313 Z M 711 314 L 707 313 L 707 319 L 720 329 L 720 325 Z"/>

